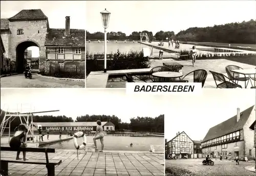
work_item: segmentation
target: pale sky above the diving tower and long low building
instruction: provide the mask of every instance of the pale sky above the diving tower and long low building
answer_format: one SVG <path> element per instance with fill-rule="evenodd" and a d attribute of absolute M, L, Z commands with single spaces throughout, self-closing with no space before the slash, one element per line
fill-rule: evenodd
<path fill-rule="evenodd" d="M 81 115 L 116 115 L 130 123 L 132 117 L 157 117 L 163 114 L 162 96 L 132 96 L 124 89 L 1 89 L 1 108 L 16 112 L 59 112 L 38 115 L 65 115 L 74 120 Z M 28 109 L 28 110 L 27 110 Z"/>

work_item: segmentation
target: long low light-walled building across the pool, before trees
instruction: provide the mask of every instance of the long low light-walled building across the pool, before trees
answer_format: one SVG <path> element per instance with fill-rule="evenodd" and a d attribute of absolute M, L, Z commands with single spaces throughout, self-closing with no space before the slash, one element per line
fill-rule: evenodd
<path fill-rule="evenodd" d="M 33 130 L 37 130 L 38 126 L 42 127 L 42 130 L 49 128 L 50 130 L 86 130 L 96 131 L 96 122 L 33 122 Z M 104 131 L 114 131 L 115 125 L 112 122 L 101 122 L 101 126 Z"/>

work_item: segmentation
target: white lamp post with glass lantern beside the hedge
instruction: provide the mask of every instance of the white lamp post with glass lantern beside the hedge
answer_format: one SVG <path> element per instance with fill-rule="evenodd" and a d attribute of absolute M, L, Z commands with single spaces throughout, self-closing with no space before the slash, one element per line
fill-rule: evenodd
<path fill-rule="evenodd" d="M 104 28 L 104 73 L 106 73 L 106 28 L 109 27 L 110 12 L 105 9 L 100 14 Z"/>

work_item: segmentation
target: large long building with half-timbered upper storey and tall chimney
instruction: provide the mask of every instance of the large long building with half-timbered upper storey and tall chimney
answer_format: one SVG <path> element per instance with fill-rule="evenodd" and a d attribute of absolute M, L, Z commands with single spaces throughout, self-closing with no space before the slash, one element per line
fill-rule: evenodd
<path fill-rule="evenodd" d="M 253 147 L 254 131 L 249 127 L 255 121 L 255 106 L 251 106 L 237 115 L 211 127 L 202 140 L 202 149 L 205 155 L 232 159 L 239 156 L 252 160 L 255 153 Z"/>

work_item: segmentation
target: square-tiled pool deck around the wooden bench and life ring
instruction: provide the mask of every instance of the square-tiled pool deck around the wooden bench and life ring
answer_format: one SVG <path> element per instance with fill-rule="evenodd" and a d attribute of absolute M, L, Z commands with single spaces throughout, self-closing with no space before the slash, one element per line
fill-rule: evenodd
<path fill-rule="evenodd" d="M 22 155 L 22 153 L 20 154 Z M 55 175 L 66 176 L 149 176 L 164 175 L 164 155 L 148 151 L 60 150 L 48 153 L 49 160 L 62 160 L 55 167 Z M 15 158 L 16 152 L 1 151 L 1 157 Z M 28 152 L 29 159 L 45 159 L 44 153 Z M 9 163 L 9 175 L 47 175 L 45 165 Z"/>

